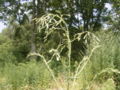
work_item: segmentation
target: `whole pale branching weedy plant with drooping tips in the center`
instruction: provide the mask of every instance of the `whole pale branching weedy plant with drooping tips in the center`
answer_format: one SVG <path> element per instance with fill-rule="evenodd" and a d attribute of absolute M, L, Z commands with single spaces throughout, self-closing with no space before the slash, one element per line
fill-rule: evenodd
<path fill-rule="evenodd" d="M 47 69 L 51 73 L 51 76 L 53 77 L 53 80 L 55 81 L 58 88 L 61 88 L 62 90 L 74 90 L 75 89 L 75 83 L 76 79 L 78 78 L 78 75 L 81 74 L 81 72 L 85 69 L 88 62 L 90 62 L 90 58 L 93 55 L 93 52 L 100 47 L 99 45 L 99 39 L 91 32 L 81 32 L 74 34 L 73 38 L 70 37 L 69 27 L 66 23 L 64 16 L 69 17 L 69 15 L 63 15 L 63 14 L 46 14 L 43 15 L 40 18 L 34 19 L 38 25 L 38 31 L 39 33 L 44 32 L 44 43 L 47 43 L 47 41 L 50 41 L 50 37 L 52 35 L 57 33 L 57 37 L 59 38 L 59 42 L 57 42 L 56 46 L 50 48 L 47 50 L 47 53 L 49 53 L 49 57 L 47 54 L 38 52 L 38 53 L 31 53 L 28 56 L 36 55 L 41 57 L 43 62 L 45 63 Z M 84 37 L 82 37 L 84 34 Z M 88 53 L 83 57 L 83 59 L 78 63 L 78 65 L 75 67 L 75 72 L 73 73 L 71 71 L 71 52 L 72 52 L 72 44 L 75 40 L 80 41 L 81 38 L 84 39 L 84 43 L 87 45 L 87 48 L 90 49 Z M 92 44 L 91 44 L 92 43 Z M 89 48 L 90 47 L 90 48 Z M 57 81 L 57 77 L 54 73 L 54 70 L 51 68 L 50 63 L 53 62 L 53 60 L 56 58 L 57 61 L 62 60 L 61 53 L 62 51 L 67 48 L 67 60 L 66 63 L 66 70 L 67 70 L 67 80 L 66 80 L 66 87 L 61 87 L 61 85 Z M 64 65 L 63 65 L 64 66 Z M 96 78 L 96 76 L 95 76 Z M 90 84 L 88 84 L 88 87 L 90 87 Z"/>

